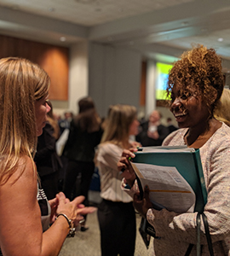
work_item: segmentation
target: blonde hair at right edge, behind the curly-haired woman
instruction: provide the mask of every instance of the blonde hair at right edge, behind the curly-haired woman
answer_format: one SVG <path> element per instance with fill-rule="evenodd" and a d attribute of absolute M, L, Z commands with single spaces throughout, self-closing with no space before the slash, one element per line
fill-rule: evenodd
<path fill-rule="evenodd" d="M 224 89 L 221 95 L 221 104 L 217 106 L 214 117 L 230 126 L 230 90 Z"/>

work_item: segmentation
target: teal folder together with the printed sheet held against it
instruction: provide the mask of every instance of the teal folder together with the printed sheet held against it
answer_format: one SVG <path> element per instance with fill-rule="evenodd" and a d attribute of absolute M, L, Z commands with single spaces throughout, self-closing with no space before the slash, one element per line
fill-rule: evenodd
<path fill-rule="evenodd" d="M 184 147 L 147 147 L 135 153 L 132 166 L 147 184 L 157 209 L 203 212 L 207 191 L 199 150 Z"/>

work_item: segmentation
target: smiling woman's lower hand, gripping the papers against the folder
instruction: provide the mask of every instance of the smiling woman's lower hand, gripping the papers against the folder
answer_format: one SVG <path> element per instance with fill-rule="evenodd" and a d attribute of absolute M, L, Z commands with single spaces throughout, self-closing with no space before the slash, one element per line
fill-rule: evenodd
<path fill-rule="evenodd" d="M 140 193 L 136 193 L 134 195 L 133 204 L 137 212 L 140 212 L 144 218 L 147 218 L 147 211 L 152 208 L 152 202 L 149 199 L 149 188 L 147 185 L 144 189 L 143 199 L 140 198 Z"/>

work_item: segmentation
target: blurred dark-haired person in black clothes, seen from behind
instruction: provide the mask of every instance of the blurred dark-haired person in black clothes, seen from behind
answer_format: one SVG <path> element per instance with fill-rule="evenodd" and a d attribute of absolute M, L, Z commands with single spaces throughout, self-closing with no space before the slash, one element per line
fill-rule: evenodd
<path fill-rule="evenodd" d="M 88 191 L 95 171 L 95 147 L 101 142 L 103 130 L 101 118 L 91 97 L 80 99 L 78 107 L 79 113 L 72 119 L 69 137 L 62 153 L 68 159 L 63 192 L 70 200 L 83 195 L 83 204 L 89 206 Z M 86 216 L 84 217 L 86 220 Z M 88 229 L 84 224 L 85 222 L 81 224 L 82 231 Z"/>

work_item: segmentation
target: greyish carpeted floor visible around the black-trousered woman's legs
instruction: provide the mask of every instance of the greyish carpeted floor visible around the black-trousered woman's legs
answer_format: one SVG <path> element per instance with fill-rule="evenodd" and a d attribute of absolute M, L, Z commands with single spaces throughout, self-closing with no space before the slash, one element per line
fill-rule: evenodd
<path fill-rule="evenodd" d="M 90 197 L 93 202 L 98 202 L 100 200 L 98 195 L 94 192 L 91 193 L 89 199 Z M 150 247 L 147 249 L 138 231 L 140 222 L 141 217 L 139 214 L 136 214 L 137 232 L 135 256 L 150 256 L 152 255 L 152 238 L 150 241 Z M 66 241 L 60 251 L 60 256 L 101 256 L 100 230 L 96 212 L 88 215 L 87 225 L 89 225 L 89 230 L 85 232 L 78 230 L 75 237 L 66 238 Z"/>

